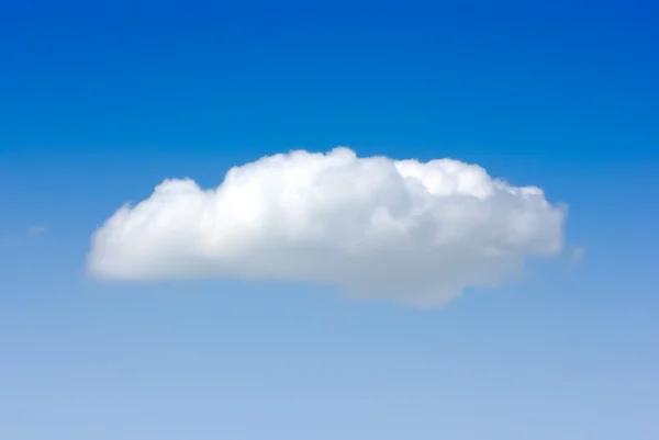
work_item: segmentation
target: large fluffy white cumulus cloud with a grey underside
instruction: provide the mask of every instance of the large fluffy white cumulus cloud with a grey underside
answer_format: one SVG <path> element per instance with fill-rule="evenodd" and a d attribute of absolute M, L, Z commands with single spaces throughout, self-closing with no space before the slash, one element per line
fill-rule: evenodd
<path fill-rule="evenodd" d="M 302 281 L 436 305 L 560 252 L 563 223 L 539 188 L 476 165 L 299 150 L 235 167 L 215 189 L 165 180 L 93 234 L 88 270 Z"/>

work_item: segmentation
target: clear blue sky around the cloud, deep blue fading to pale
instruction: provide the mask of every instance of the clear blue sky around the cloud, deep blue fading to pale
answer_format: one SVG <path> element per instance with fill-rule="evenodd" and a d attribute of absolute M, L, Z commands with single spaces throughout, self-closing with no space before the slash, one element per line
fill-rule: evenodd
<path fill-rule="evenodd" d="M 659 9 L 457 3 L 0 0 L 0 439 L 659 438 Z M 437 311 L 86 279 L 164 178 L 335 145 L 537 184 L 585 260 Z"/>

